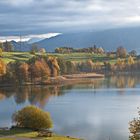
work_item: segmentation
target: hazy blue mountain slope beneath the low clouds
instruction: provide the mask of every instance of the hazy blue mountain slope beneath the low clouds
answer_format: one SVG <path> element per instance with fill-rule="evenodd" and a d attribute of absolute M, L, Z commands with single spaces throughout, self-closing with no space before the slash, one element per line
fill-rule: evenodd
<path fill-rule="evenodd" d="M 110 29 L 98 32 L 65 33 L 36 42 L 40 48 L 53 52 L 57 47 L 83 48 L 96 44 L 107 51 L 124 46 L 128 51 L 135 49 L 140 52 L 140 27 Z M 27 45 L 27 46 L 26 46 Z M 31 46 L 24 43 L 24 49 Z M 25 50 L 26 50 L 25 49 Z"/>

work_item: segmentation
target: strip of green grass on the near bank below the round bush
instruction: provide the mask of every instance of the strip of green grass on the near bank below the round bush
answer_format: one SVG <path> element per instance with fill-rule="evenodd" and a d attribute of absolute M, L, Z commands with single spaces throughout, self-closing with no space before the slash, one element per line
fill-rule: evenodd
<path fill-rule="evenodd" d="M 52 137 L 38 137 L 38 132 L 28 130 L 28 129 L 11 129 L 11 130 L 0 130 L 0 140 L 15 140 L 18 138 L 30 138 L 30 139 L 37 139 L 39 140 L 79 140 L 76 138 L 54 135 Z M 11 138 L 10 138 L 11 136 Z M 14 137 L 14 138 L 12 138 Z"/>

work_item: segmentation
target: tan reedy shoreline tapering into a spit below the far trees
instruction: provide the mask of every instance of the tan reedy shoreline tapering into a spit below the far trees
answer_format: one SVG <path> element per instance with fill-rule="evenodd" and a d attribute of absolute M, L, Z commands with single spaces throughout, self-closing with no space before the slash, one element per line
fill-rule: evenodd
<path fill-rule="evenodd" d="M 13 87 L 13 86 L 33 86 L 33 85 L 71 85 L 77 83 L 88 83 L 95 79 L 103 79 L 105 77 L 104 74 L 97 73 L 82 73 L 82 74 L 71 74 L 71 75 L 60 75 L 57 77 L 50 77 L 45 81 L 37 81 L 37 82 L 26 82 L 22 84 L 0 84 L 0 87 Z"/>

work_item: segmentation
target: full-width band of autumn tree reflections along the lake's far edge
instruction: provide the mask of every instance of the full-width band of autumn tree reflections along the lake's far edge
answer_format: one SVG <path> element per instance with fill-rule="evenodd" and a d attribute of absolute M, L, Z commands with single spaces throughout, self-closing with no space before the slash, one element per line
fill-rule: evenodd
<path fill-rule="evenodd" d="M 109 89 L 117 88 L 118 93 L 123 93 L 125 88 L 135 88 L 140 85 L 140 75 L 111 76 L 105 79 L 90 80 L 87 84 L 69 86 L 26 86 L 9 87 L 0 89 L 0 100 L 14 97 L 17 104 L 25 103 L 38 105 L 43 108 L 52 96 L 61 96 L 71 89 Z M 96 92 L 95 92 L 96 93 Z"/>

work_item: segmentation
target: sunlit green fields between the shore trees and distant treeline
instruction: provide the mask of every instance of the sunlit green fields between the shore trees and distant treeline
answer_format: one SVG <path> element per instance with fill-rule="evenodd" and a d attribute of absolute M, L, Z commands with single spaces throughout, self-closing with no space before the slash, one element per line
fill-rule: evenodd
<path fill-rule="evenodd" d="M 36 53 L 36 55 L 40 55 Z M 103 64 L 104 61 L 109 61 L 111 64 L 116 63 L 115 57 L 107 57 L 104 55 L 97 55 L 91 53 L 70 53 L 70 54 L 58 54 L 58 53 L 47 53 L 46 55 L 55 56 L 58 58 L 62 58 L 63 60 L 69 61 L 86 61 L 88 59 L 93 60 L 93 62 L 99 62 Z M 13 61 L 27 61 L 35 55 L 30 54 L 29 52 L 3 52 L 2 60 L 5 63 L 13 62 Z"/>

